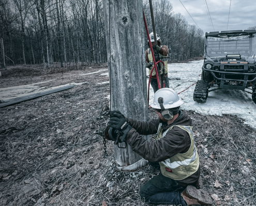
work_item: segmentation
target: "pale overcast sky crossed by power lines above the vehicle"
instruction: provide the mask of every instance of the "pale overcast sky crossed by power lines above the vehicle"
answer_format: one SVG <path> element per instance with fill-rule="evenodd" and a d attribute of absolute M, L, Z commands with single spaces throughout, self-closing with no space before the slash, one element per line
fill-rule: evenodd
<path fill-rule="evenodd" d="M 214 28 L 215 31 L 227 30 L 230 0 L 206 0 L 213 25 L 206 12 L 205 0 L 180 0 L 188 12 L 179 0 L 169 1 L 175 13 L 183 14 L 189 24 L 194 24 L 189 12 L 204 32 L 214 31 Z M 228 30 L 244 30 L 250 26 L 256 26 L 256 0 L 231 0 Z"/>

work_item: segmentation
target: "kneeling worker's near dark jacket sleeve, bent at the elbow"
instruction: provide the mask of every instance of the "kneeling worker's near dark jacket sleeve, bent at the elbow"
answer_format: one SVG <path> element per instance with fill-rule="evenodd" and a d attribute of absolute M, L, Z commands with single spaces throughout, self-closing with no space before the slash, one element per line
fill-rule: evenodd
<path fill-rule="evenodd" d="M 183 152 L 190 147 L 188 133 L 174 127 L 167 134 L 156 141 L 148 142 L 135 129 L 131 129 L 126 137 L 131 149 L 150 162 L 161 162 Z"/>

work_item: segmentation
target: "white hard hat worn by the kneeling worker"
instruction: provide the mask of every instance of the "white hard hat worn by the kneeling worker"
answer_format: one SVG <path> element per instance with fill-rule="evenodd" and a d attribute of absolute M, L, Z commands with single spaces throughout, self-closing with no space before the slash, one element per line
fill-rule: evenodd
<path fill-rule="evenodd" d="M 163 99 L 162 106 L 164 109 L 171 109 L 175 107 L 179 107 L 184 103 L 183 100 L 180 100 L 177 93 L 170 89 L 170 88 L 162 88 L 160 90 L 157 90 L 157 92 L 154 95 L 154 103 L 150 105 L 154 109 L 162 109 L 160 107 L 158 98 L 161 97 Z"/>

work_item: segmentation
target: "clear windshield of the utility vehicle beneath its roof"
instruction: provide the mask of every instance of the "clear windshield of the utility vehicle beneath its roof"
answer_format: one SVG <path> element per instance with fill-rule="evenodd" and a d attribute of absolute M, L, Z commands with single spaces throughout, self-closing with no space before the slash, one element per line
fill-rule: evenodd
<path fill-rule="evenodd" d="M 205 55 L 207 57 L 225 57 L 227 54 L 255 57 L 256 36 L 208 37 L 205 39 Z"/>

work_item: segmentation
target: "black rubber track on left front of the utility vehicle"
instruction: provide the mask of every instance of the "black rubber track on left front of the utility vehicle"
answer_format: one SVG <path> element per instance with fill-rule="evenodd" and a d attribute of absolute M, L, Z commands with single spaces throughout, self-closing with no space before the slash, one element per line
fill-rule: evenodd
<path fill-rule="evenodd" d="M 197 102 L 206 102 L 208 97 L 208 83 L 204 80 L 198 80 L 195 84 L 193 100 Z"/>

